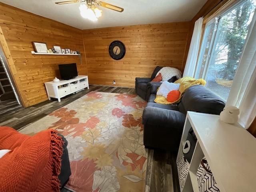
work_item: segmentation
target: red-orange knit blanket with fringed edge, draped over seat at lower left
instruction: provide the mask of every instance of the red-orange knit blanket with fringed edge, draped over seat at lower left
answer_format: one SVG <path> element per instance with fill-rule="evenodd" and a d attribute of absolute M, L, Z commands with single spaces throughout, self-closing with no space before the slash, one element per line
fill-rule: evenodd
<path fill-rule="evenodd" d="M 0 191 L 59 192 L 63 141 L 55 130 L 34 136 L 0 127 L 0 149 L 10 149 L 0 158 Z"/>

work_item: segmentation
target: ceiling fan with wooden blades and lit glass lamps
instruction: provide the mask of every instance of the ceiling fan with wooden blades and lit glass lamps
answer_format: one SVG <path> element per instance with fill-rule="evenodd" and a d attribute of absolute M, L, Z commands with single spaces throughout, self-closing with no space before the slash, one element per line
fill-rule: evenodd
<path fill-rule="evenodd" d="M 70 3 L 86 3 L 81 4 L 80 14 L 82 17 L 90 19 L 92 21 L 98 20 L 98 18 L 102 15 L 102 11 L 96 8 L 95 4 L 104 8 L 108 8 L 114 11 L 123 12 L 124 8 L 102 2 L 102 1 L 96 1 L 96 0 L 71 0 L 71 1 L 62 1 L 62 2 L 56 2 L 58 5 L 63 4 L 70 4 Z"/>

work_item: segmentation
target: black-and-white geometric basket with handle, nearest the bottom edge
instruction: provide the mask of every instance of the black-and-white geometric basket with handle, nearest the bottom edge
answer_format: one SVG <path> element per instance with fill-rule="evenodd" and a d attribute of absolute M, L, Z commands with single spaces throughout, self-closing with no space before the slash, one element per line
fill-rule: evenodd
<path fill-rule="evenodd" d="M 206 158 L 202 159 L 196 176 L 199 192 L 220 192 Z"/>

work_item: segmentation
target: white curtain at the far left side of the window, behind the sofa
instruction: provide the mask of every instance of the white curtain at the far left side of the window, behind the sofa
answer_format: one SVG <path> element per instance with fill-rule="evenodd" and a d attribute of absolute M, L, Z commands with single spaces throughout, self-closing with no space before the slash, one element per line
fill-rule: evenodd
<path fill-rule="evenodd" d="M 194 26 L 194 31 L 192 35 L 192 39 L 190 42 L 190 47 L 188 51 L 188 58 L 186 61 L 185 69 L 183 72 L 183 77 L 190 76 L 194 77 L 195 70 L 196 70 L 196 62 L 197 56 L 200 46 L 200 39 L 202 34 L 202 25 L 203 25 L 203 18 L 200 17 Z"/>

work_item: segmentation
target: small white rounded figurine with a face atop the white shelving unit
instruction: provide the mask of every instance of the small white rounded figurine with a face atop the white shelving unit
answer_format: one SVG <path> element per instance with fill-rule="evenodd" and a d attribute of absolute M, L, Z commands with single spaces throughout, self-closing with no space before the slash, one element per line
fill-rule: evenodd
<path fill-rule="evenodd" d="M 240 110 L 235 106 L 225 106 L 223 111 L 220 112 L 220 120 L 225 123 L 234 124 L 238 122 L 238 115 Z"/>

